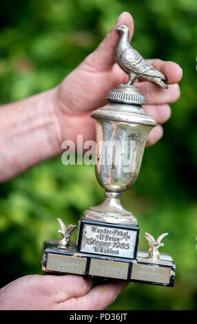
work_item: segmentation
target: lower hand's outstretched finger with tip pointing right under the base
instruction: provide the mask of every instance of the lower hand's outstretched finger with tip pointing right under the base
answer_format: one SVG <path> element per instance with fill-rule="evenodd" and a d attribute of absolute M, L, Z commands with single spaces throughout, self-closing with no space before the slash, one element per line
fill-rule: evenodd
<path fill-rule="evenodd" d="M 105 310 L 127 285 L 128 283 L 125 281 L 97 285 L 87 295 L 71 299 L 69 304 L 66 303 L 66 307 L 68 310 Z"/>

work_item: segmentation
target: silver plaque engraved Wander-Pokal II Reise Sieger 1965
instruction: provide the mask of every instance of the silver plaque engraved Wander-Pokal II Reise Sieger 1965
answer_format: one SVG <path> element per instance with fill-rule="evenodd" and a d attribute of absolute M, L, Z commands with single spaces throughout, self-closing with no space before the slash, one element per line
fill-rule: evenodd
<path fill-rule="evenodd" d="M 84 224 L 80 251 L 134 259 L 137 239 L 136 230 Z"/>

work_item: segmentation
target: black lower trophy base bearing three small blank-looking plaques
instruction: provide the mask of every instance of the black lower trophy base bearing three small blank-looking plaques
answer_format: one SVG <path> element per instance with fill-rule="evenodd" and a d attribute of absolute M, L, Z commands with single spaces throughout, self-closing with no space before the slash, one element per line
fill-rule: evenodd
<path fill-rule="evenodd" d="M 150 260 L 147 252 L 138 251 L 136 259 L 101 256 L 77 252 L 70 242 L 67 250 L 57 247 L 58 241 L 45 241 L 41 256 L 43 272 L 53 274 L 80 274 L 97 279 L 121 279 L 173 287 L 175 264 L 167 254 L 159 260 Z"/>

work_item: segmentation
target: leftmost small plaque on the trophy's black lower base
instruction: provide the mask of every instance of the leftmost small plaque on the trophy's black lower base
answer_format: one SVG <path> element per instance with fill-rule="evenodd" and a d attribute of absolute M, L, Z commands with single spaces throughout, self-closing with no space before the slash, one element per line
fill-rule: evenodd
<path fill-rule="evenodd" d="M 46 270 L 69 272 L 70 274 L 85 274 L 87 259 L 76 256 L 48 254 Z"/>

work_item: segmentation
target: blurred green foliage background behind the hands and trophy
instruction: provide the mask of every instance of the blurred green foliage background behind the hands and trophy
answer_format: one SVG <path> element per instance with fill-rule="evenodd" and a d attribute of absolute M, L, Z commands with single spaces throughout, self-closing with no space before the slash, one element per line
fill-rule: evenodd
<path fill-rule="evenodd" d="M 145 150 L 134 188 L 122 203 L 143 232 L 169 232 L 165 251 L 176 262 L 174 288 L 129 284 L 110 310 L 194 310 L 197 304 L 196 0 L 1 0 L 0 100 L 16 101 L 57 85 L 103 39 L 123 11 L 134 17 L 132 45 L 143 57 L 183 68 L 181 97 L 172 105 L 164 136 Z M 45 239 L 59 224 L 77 223 L 101 203 L 94 166 L 61 163 L 61 156 L 0 186 L 1 287 L 19 276 L 41 274 Z M 76 234 L 75 234 L 76 236 Z"/>

